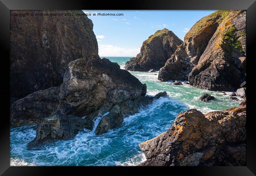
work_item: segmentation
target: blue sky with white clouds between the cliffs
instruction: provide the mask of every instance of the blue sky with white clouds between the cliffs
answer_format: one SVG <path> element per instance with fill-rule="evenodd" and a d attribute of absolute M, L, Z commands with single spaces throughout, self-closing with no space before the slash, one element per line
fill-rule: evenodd
<path fill-rule="evenodd" d="M 143 41 L 157 30 L 167 28 L 181 40 L 201 18 L 216 10 L 84 10 L 95 13 L 88 16 L 93 21 L 93 31 L 98 40 L 100 56 L 136 56 Z M 124 14 L 99 16 L 97 13 Z"/>

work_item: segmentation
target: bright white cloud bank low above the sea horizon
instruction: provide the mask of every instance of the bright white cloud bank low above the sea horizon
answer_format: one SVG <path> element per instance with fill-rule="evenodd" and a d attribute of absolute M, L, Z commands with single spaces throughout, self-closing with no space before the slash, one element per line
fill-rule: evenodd
<path fill-rule="evenodd" d="M 121 48 L 113 45 L 98 45 L 100 56 L 136 56 L 140 48 Z"/>

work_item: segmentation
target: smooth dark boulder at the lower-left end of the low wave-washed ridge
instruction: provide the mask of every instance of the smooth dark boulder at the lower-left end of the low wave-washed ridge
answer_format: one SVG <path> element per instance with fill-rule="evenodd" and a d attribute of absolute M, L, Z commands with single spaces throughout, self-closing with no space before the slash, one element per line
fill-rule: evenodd
<path fill-rule="evenodd" d="M 109 114 L 100 120 L 96 128 L 96 135 L 106 133 L 109 129 L 120 127 L 123 121 L 124 117 L 120 112 L 120 107 L 118 105 L 113 106 Z"/>

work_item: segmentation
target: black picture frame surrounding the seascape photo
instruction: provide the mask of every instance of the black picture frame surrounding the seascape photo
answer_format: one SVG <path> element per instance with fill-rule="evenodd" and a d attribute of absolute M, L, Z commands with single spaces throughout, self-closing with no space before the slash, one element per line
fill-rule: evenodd
<path fill-rule="evenodd" d="M 64 10 L 64 9 L 111 9 L 111 10 L 202 10 L 202 9 L 243 9 L 247 10 L 247 166 L 244 167 L 10 167 L 9 147 L 9 11 L 10 10 Z M 151 172 L 153 169 L 163 174 L 190 176 L 253 176 L 256 174 L 256 128 L 254 115 L 254 100 L 256 100 L 256 84 L 254 65 L 256 56 L 256 1 L 255 0 L 137 0 L 137 1 L 86 1 L 86 0 L 1 0 L 0 2 L 0 35 L 1 35 L 1 93 L 2 118 L 0 122 L 0 174 L 3 176 L 39 176 L 74 174 L 78 172 L 91 174 L 104 173 L 104 170 L 115 169 L 116 174 L 133 174 L 138 170 Z M 99 169 L 100 168 L 100 169 Z M 116 171 L 121 170 L 121 172 Z M 125 172 L 123 171 L 125 170 Z M 108 171 L 106 171 L 108 172 Z M 144 172 L 144 171 L 143 171 Z"/>

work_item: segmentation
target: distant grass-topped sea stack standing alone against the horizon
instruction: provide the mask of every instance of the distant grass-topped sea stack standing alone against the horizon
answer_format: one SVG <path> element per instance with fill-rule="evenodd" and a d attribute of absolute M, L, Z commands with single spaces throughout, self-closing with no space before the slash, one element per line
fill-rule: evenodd
<path fill-rule="evenodd" d="M 130 71 L 159 70 L 180 44 L 182 40 L 172 31 L 168 29 L 156 31 L 143 42 L 140 53 L 126 62 L 124 68 Z"/>

